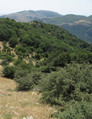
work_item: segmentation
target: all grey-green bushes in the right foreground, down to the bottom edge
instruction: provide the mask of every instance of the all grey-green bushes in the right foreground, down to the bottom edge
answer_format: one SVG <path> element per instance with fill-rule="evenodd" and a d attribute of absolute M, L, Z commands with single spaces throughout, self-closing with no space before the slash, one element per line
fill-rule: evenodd
<path fill-rule="evenodd" d="M 41 100 L 61 109 L 58 119 L 92 119 L 92 65 L 68 64 L 44 77 L 39 84 Z"/>

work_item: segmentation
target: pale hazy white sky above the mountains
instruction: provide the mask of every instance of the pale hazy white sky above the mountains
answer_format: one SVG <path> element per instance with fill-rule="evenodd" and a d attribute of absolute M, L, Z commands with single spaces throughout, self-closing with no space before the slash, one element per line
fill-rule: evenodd
<path fill-rule="evenodd" d="M 92 15 L 92 0 L 0 0 L 0 14 L 22 10 L 51 10 L 62 15 Z"/>

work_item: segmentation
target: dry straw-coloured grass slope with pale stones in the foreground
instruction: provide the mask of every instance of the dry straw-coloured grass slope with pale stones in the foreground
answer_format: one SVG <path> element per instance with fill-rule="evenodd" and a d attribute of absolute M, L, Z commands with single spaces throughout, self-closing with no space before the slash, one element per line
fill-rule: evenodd
<path fill-rule="evenodd" d="M 41 95 L 37 92 L 15 89 L 13 80 L 0 77 L 0 119 L 22 119 L 31 115 L 34 119 L 50 119 L 55 112 L 50 105 L 40 103 Z"/>

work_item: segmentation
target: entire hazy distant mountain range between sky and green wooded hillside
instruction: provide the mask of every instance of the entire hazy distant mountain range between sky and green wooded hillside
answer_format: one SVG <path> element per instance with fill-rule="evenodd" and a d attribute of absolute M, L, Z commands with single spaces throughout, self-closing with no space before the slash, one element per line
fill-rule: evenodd
<path fill-rule="evenodd" d="M 47 24 L 57 25 L 78 38 L 92 43 L 92 15 L 88 17 L 73 14 L 60 15 L 53 11 L 28 10 L 1 17 L 8 17 L 19 22 L 41 21 Z"/>

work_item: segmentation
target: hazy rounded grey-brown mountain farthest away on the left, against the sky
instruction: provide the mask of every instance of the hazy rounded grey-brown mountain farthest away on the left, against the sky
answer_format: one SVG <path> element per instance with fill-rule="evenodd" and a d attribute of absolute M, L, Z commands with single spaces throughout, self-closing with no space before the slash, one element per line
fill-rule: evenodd
<path fill-rule="evenodd" d="M 61 16 L 60 14 L 52 11 L 45 11 L 45 10 L 38 10 L 38 11 L 33 11 L 33 10 L 28 10 L 28 11 L 20 11 L 17 13 L 12 13 L 9 15 L 2 16 L 4 18 L 11 18 L 16 21 L 20 22 L 31 22 L 34 20 L 40 20 L 44 18 L 52 18 L 52 17 L 59 17 Z"/>

